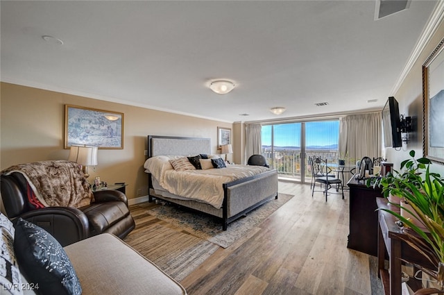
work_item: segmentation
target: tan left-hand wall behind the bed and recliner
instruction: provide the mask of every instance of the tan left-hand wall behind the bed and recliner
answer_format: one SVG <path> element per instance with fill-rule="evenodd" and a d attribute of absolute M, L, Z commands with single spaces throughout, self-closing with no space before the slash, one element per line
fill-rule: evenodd
<path fill-rule="evenodd" d="M 64 146 L 65 104 L 124 113 L 124 148 L 99 149 L 96 169 L 89 169 L 89 182 L 95 176 L 108 183 L 126 182 L 128 199 L 148 193 L 146 160 L 147 135 L 209 137 L 212 153 L 216 147 L 217 126 L 232 128 L 221 121 L 176 115 L 146 108 L 110 103 L 81 96 L 62 94 L 1 83 L 0 169 L 40 160 L 67 159 Z M 233 137 L 234 153 L 237 153 Z M 228 155 L 231 160 L 232 155 Z M 139 192 L 139 194 L 137 193 Z"/>

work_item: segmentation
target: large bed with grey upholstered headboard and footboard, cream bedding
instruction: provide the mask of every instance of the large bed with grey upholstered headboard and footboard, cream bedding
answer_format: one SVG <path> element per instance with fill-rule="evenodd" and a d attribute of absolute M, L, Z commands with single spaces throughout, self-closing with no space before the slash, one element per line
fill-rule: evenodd
<path fill-rule="evenodd" d="M 211 143 L 209 138 L 148 135 L 148 160 L 146 160 L 144 167 L 148 174 L 149 201 L 152 202 L 153 199 L 160 199 L 197 210 L 198 212 L 210 214 L 220 219 L 223 230 L 227 230 L 230 222 L 273 198 L 278 199 L 278 172 L 266 167 L 227 165 L 224 169 L 206 170 L 212 170 L 212 174 L 219 174 L 221 171 L 227 171 L 228 174 L 236 174 L 236 170 L 240 170 L 241 166 L 252 170 L 243 170 L 241 174 L 245 174 L 245 177 L 239 178 L 239 174 L 237 174 L 237 176 L 234 176 L 236 179 L 221 183 L 221 187 L 218 185 L 218 189 L 221 191 L 220 201 L 206 202 L 201 199 L 191 199 L 197 197 L 196 190 L 193 191 L 191 189 L 191 192 L 196 193 L 196 196 L 183 196 L 168 192 L 161 185 L 163 180 L 156 179 L 154 175 L 157 178 L 161 178 L 159 173 L 164 173 L 166 176 L 167 173 L 173 174 L 173 172 L 165 172 L 162 169 L 160 172 L 153 168 L 152 164 L 147 164 L 159 159 L 160 161 L 165 161 L 167 159 L 183 158 L 184 156 L 210 155 L 210 151 Z M 213 157 L 217 158 L 214 155 Z M 151 170 L 147 168 L 149 165 L 151 165 Z M 206 172 L 196 170 L 194 174 L 206 174 Z M 207 177 L 214 178 L 213 176 Z M 202 190 L 205 191 L 205 188 L 202 188 Z"/>

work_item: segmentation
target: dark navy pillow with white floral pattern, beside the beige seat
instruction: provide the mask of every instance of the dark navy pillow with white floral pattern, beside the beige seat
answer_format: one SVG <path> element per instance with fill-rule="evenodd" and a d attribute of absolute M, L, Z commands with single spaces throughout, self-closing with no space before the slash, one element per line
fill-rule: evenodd
<path fill-rule="evenodd" d="M 46 230 L 19 218 L 14 250 L 20 269 L 41 294 L 82 294 L 76 271 L 67 253 Z"/>

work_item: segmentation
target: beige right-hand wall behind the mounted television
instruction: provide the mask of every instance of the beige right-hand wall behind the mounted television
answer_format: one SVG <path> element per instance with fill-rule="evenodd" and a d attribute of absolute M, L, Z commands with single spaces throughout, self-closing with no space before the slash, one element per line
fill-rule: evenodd
<path fill-rule="evenodd" d="M 392 148 L 385 149 L 387 160 L 394 163 L 395 169 L 399 170 L 400 162 L 409 158 L 411 150 L 416 151 L 416 156 L 422 156 L 422 65 L 443 37 L 444 22 L 441 22 L 432 40 L 422 51 L 418 61 L 413 65 L 413 69 L 405 78 L 398 92 L 395 93 L 395 98 L 400 105 L 400 114 L 412 117 L 414 129 L 414 132 L 409 134 L 410 141 L 407 145 L 402 146 L 401 151 L 395 151 Z M 444 175 L 443 165 L 434 164 L 431 169 Z"/>

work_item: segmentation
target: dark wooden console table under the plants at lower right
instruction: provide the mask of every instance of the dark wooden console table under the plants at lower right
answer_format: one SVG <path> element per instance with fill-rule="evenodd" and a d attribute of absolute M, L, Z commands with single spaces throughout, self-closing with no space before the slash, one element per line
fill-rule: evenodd
<path fill-rule="evenodd" d="M 388 204 L 386 199 L 377 199 L 378 208 L 386 208 L 392 211 L 398 211 L 399 208 Z M 395 224 L 397 220 L 392 214 L 378 210 L 379 216 L 379 230 L 378 230 L 378 269 L 379 275 L 384 285 L 385 293 L 388 295 L 401 294 L 401 258 L 409 262 L 413 262 L 430 269 L 436 269 L 434 265 L 430 264 L 418 251 L 411 248 L 405 242 L 402 242 L 402 235 L 405 233 Z M 390 274 L 384 269 L 384 253 L 388 252 Z M 421 287 L 420 281 L 410 278 L 409 287 L 416 291 Z"/>

